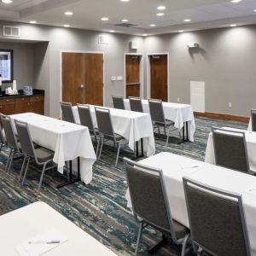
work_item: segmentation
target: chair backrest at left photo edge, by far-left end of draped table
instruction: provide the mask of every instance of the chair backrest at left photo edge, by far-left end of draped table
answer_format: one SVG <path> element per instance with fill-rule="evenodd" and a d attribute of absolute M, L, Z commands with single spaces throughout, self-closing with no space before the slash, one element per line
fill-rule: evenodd
<path fill-rule="evenodd" d="M 10 117 L 8 115 L 4 115 L 3 113 L 1 113 L 1 122 L 3 125 L 5 140 L 9 148 L 19 150 L 17 138 L 15 137 L 15 130 Z"/>

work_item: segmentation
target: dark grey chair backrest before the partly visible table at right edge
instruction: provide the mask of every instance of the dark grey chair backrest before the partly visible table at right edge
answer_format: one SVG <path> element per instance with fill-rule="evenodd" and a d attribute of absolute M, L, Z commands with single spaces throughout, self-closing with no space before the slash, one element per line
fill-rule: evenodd
<path fill-rule="evenodd" d="M 245 133 L 212 127 L 215 163 L 240 172 L 249 172 Z"/>

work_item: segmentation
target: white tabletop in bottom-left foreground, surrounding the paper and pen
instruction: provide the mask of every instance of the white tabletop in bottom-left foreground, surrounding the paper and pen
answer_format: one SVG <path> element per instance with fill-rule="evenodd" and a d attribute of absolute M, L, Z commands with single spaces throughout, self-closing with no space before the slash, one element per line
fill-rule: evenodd
<path fill-rule="evenodd" d="M 81 230 L 44 202 L 35 202 L 0 217 L 0 254 L 19 256 L 15 247 L 38 234 L 52 229 L 68 241 L 44 253 L 45 256 L 114 256 L 112 251 Z"/>

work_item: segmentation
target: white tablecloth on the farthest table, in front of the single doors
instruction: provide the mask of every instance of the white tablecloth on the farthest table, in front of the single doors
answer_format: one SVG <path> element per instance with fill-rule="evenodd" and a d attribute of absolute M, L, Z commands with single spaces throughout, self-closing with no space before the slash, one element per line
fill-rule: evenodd
<path fill-rule="evenodd" d="M 143 111 L 145 113 L 149 113 L 148 101 L 142 101 Z M 189 122 L 189 141 L 194 142 L 195 118 L 191 105 L 163 102 L 163 108 L 166 119 L 172 120 L 175 123 L 174 126 L 178 129 L 178 131 L 183 129 L 184 122 Z M 131 109 L 129 99 L 125 99 L 125 109 Z"/>

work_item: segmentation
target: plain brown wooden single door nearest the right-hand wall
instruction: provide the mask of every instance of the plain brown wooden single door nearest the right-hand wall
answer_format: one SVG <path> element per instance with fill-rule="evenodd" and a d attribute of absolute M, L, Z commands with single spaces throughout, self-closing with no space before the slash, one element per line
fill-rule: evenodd
<path fill-rule="evenodd" d="M 167 55 L 150 56 L 150 97 L 168 101 Z"/>

